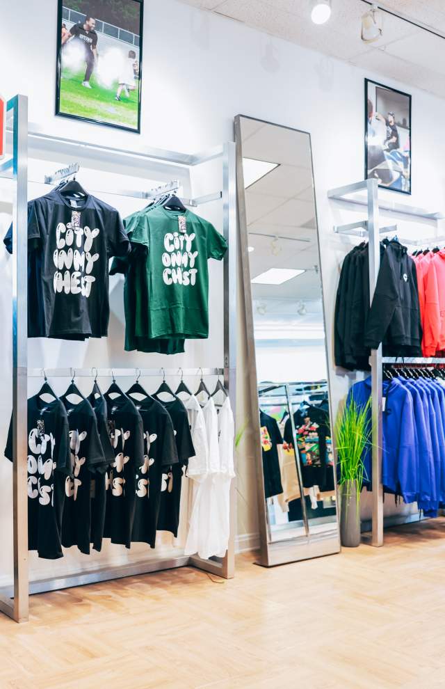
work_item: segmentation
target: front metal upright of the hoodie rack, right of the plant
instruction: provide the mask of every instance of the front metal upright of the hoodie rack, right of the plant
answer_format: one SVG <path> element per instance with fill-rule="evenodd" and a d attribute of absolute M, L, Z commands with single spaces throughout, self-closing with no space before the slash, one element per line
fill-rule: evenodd
<path fill-rule="evenodd" d="M 369 297 L 371 303 L 380 268 L 380 233 L 378 221 L 378 181 L 368 180 Z M 373 459 L 372 546 L 383 545 L 382 486 L 382 345 L 371 350 L 371 420 Z"/>

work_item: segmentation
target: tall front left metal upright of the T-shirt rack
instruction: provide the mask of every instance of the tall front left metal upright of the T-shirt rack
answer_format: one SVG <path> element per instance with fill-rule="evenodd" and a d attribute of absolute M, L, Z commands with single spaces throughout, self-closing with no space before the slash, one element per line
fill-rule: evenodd
<path fill-rule="evenodd" d="M 17 95 L 14 110 L 13 159 L 13 544 L 15 621 L 29 617 L 27 377 L 28 359 L 28 99 Z"/>

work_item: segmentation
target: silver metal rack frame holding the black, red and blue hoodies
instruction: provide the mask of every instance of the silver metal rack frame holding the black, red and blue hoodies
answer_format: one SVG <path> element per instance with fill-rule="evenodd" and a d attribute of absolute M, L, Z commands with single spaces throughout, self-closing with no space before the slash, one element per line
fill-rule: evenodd
<path fill-rule="evenodd" d="M 366 196 L 352 196 L 357 192 L 364 191 Z M 369 297 L 372 303 L 375 285 L 377 284 L 378 272 L 380 269 L 380 235 L 386 232 L 394 232 L 394 225 L 380 228 L 379 210 L 394 212 L 398 215 L 415 216 L 428 221 L 439 221 L 445 216 L 439 212 L 430 213 L 423 208 L 407 206 L 401 203 L 384 202 L 378 199 L 378 180 L 363 180 L 348 184 L 346 187 L 331 189 L 327 192 L 327 198 L 366 205 L 367 218 L 356 223 L 334 226 L 334 232 L 344 235 L 367 236 L 369 240 Z M 360 230 L 359 230 L 360 228 Z M 363 232 L 363 234 L 359 234 Z M 399 357 L 400 358 L 400 357 Z M 394 358 L 383 358 L 382 345 L 378 349 L 371 349 L 371 425 L 372 425 L 372 525 L 371 541 L 372 546 L 383 545 L 383 486 L 382 486 L 382 364 L 396 361 Z M 419 360 L 417 360 L 419 361 Z M 430 361 L 430 360 L 423 360 Z M 439 359 L 434 360 L 440 363 Z M 445 361 L 445 360 L 444 360 Z M 409 521 L 409 519 L 408 519 Z"/>

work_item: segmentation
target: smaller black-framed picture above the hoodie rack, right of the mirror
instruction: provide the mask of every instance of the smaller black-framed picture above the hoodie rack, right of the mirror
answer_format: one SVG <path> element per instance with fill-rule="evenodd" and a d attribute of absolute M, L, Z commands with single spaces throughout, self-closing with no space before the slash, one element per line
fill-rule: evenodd
<path fill-rule="evenodd" d="M 366 179 L 411 193 L 411 96 L 365 79 L 364 103 Z"/>

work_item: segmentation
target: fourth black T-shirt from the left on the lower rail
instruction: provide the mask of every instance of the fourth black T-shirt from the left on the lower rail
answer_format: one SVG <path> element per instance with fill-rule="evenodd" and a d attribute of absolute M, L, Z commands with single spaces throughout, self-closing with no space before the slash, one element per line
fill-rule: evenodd
<path fill-rule="evenodd" d="M 127 395 L 111 399 L 106 393 L 104 397 L 115 452 L 113 466 L 106 473 L 104 536 L 129 548 L 136 509 L 136 475 L 144 464 L 143 422 Z"/>

